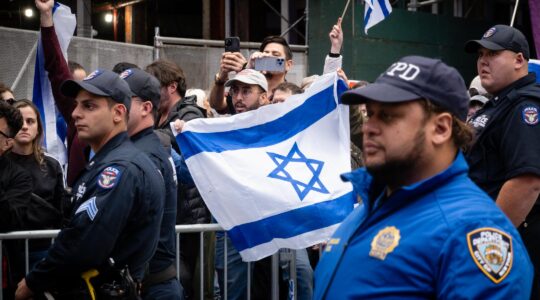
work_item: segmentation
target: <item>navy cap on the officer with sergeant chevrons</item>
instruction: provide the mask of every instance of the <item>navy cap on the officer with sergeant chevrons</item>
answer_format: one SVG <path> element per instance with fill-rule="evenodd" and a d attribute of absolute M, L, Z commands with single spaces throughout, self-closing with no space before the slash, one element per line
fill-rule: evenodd
<path fill-rule="evenodd" d="M 62 94 L 71 98 L 75 98 L 81 90 L 110 97 L 114 102 L 124 104 L 128 110 L 131 106 L 133 93 L 129 85 L 112 71 L 95 70 L 83 80 L 66 80 L 60 86 Z"/>

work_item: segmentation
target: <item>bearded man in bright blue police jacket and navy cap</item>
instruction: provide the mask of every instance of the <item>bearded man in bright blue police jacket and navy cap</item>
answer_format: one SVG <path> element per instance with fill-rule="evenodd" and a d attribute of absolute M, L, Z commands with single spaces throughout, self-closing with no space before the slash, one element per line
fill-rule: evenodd
<path fill-rule="evenodd" d="M 516 229 L 467 176 L 468 96 L 440 60 L 408 56 L 366 103 L 366 168 L 342 175 L 362 199 L 329 240 L 315 299 L 525 299 L 532 266 Z"/>

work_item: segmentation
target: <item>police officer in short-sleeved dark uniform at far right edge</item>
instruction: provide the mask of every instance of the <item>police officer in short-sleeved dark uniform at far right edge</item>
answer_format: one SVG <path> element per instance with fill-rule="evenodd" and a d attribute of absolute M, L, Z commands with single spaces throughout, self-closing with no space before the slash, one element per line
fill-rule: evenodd
<path fill-rule="evenodd" d="M 532 298 L 538 299 L 540 271 L 540 86 L 528 72 L 529 44 L 517 29 L 496 25 L 480 40 L 468 41 L 478 53 L 482 86 L 494 95 L 469 121 L 476 142 L 467 153 L 471 179 L 512 221 L 535 265 Z"/>

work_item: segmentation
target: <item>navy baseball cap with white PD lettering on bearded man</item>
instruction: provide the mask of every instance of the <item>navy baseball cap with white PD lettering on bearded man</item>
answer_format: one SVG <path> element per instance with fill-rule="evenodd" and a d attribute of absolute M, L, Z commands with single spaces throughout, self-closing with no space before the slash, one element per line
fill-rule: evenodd
<path fill-rule="evenodd" d="M 458 71 L 441 60 L 405 56 L 374 83 L 341 95 L 344 104 L 366 101 L 399 103 L 427 99 L 465 121 L 469 107 L 467 87 Z"/>

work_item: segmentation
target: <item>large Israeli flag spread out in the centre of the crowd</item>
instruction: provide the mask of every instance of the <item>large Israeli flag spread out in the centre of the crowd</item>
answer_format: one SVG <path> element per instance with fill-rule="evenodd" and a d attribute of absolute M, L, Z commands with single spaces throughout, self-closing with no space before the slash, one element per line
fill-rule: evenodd
<path fill-rule="evenodd" d="M 305 93 L 176 136 L 204 201 L 244 261 L 328 239 L 352 211 L 347 90 L 337 74 Z"/>

